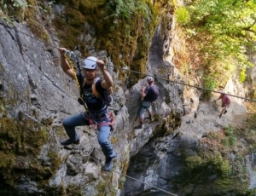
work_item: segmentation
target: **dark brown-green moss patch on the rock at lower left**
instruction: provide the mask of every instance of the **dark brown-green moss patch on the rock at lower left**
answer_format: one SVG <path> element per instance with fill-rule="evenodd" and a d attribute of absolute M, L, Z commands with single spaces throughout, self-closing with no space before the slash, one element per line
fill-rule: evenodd
<path fill-rule="evenodd" d="M 0 118 L 0 176 L 3 176 L 3 184 L 11 186 L 21 173 L 15 170 L 23 170 L 31 179 L 43 179 L 51 175 L 50 170 L 36 159 L 48 139 L 47 130 L 21 116 L 17 120 L 5 114 Z M 25 168 L 25 164 L 29 167 Z"/>

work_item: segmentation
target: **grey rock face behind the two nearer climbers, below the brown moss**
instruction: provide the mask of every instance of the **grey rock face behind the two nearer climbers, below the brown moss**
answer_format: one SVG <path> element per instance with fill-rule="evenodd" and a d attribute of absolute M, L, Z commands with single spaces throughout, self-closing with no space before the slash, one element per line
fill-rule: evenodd
<path fill-rule="evenodd" d="M 155 145 L 159 137 L 167 142 L 181 124 L 183 88 L 155 79 L 161 90 L 159 101 L 154 103 L 154 122 L 148 124 L 146 121 L 143 130 L 133 130 L 140 107 L 138 91 L 145 80 L 127 89 L 118 81 L 119 73 L 113 71 L 113 62 L 106 51 L 97 53 L 108 61 L 108 71 L 115 80 L 114 104 L 110 108 L 115 114 L 115 129 L 110 141 L 118 158 L 114 162 L 114 172 L 103 172 L 105 160 L 95 130 L 78 127 L 81 144 L 60 145 L 61 139 L 67 138 L 62 120 L 83 112 L 84 108 L 77 101 L 76 83 L 61 71 L 56 38 L 55 43 L 45 44 L 34 37 L 26 25 L 15 23 L 13 28 L 3 20 L 1 24 L 1 153 L 6 158 L 12 155 L 12 159 L 9 162 L 4 159 L 9 164 L 0 165 L 0 189 L 8 193 L 15 188 L 20 195 L 118 195 L 119 182 L 123 179 L 119 173 L 126 173 L 130 158 L 154 136 L 157 137 Z M 155 36 L 154 49 L 162 51 L 164 40 L 157 42 L 162 36 L 160 29 L 155 31 Z M 163 52 L 152 53 L 155 55 L 150 55 L 148 75 L 166 78 L 166 73 L 171 74 L 171 64 L 163 61 Z M 164 72 L 157 72 L 159 69 Z M 18 132 L 20 134 L 15 136 Z M 164 156 L 157 148 L 154 151 L 154 158 Z M 148 159 L 147 164 L 153 164 L 152 160 Z"/>

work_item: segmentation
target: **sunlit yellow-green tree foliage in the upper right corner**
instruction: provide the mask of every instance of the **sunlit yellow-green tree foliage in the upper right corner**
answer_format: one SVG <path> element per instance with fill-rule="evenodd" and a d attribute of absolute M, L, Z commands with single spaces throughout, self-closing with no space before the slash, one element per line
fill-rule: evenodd
<path fill-rule="evenodd" d="M 207 69 L 216 61 L 235 59 L 241 70 L 252 64 L 247 60 L 247 47 L 256 41 L 256 3 L 253 0 L 199 0 L 186 8 L 189 23 L 183 23 L 189 42 L 195 43 L 201 61 Z M 211 72 L 215 72 L 213 70 Z"/>

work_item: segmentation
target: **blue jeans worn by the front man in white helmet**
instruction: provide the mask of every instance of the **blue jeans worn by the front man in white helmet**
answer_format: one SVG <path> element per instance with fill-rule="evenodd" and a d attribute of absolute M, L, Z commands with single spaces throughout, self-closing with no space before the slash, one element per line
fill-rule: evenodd
<path fill-rule="evenodd" d="M 108 117 L 108 111 L 103 113 L 90 113 L 82 112 L 72 117 L 66 118 L 63 121 L 63 126 L 67 132 L 67 135 L 72 141 L 79 140 L 79 135 L 77 135 L 75 127 L 90 125 L 89 116 L 94 120 L 96 124 L 102 124 L 104 122 L 109 123 L 110 118 Z M 106 159 L 113 159 L 116 153 L 113 152 L 113 147 L 108 141 L 108 136 L 110 134 L 110 125 L 102 125 L 98 127 L 98 142 L 102 147 L 102 152 L 104 153 Z"/>

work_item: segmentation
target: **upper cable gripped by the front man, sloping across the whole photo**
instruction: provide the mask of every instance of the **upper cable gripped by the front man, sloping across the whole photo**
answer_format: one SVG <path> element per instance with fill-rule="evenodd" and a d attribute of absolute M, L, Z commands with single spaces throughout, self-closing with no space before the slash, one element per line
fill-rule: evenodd
<path fill-rule="evenodd" d="M 12 27 L 7 26 L 7 25 L 5 25 L 5 24 L 3 24 L 3 23 L 0 23 L 0 24 L 1 24 L 2 26 L 7 27 L 7 28 L 12 28 Z M 14 29 L 14 28 L 12 28 L 12 29 Z M 26 36 L 28 36 L 28 37 L 32 37 L 31 35 L 29 35 L 29 34 L 27 34 L 27 33 L 25 33 L 25 32 L 21 32 L 21 31 L 19 31 L 19 30 L 17 30 L 17 29 L 15 29 L 15 31 L 20 32 L 20 33 L 22 33 L 22 34 L 24 34 L 24 35 L 26 35 Z M 41 43 L 45 43 L 44 41 L 38 39 L 37 37 L 32 37 L 32 38 L 38 40 L 38 41 L 41 42 Z M 45 44 L 49 45 L 49 46 L 52 47 L 52 48 L 59 49 L 59 47 L 53 46 L 53 45 L 51 45 L 51 44 L 49 44 L 49 43 L 45 43 Z M 84 58 L 81 57 L 81 56 L 79 56 L 79 58 L 84 59 Z M 93 61 L 93 60 L 90 60 L 90 59 L 89 59 L 89 61 Z M 96 62 L 96 61 L 94 61 L 94 62 Z M 110 66 L 110 65 L 108 65 L 108 66 Z M 192 88 L 195 88 L 195 89 L 207 90 L 207 91 L 211 91 L 211 92 L 214 92 L 214 93 L 219 93 L 219 94 L 221 94 L 221 92 L 219 92 L 218 90 L 214 90 L 214 89 L 206 89 L 206 88 L 199 87 L 199 86 L 195 86 L 195 85 L 192 85 L 192 84 L 185 84 L 185 83 L 182 83 L 182 82 L 172 81 L 172 80 L 170 80 L 170 79 L 168 79 L 168 78 L 156 77 L 156 76 L 144 74 L 144 73 L 142 73 L 142 72 L 137 72 L 137 71 L 129 70 L 129 69 L 127 69 L 127 68 L 122 68 L 122 67 L 117 67 L 117 66 L 112 66 L 112 67 L 118 68 L 118 69 L 121 69 L 121 70 L 124 70 L 124 71 L 127 71 L 127 72 L 133 72 L 133 73 L 141 74 L 141 75 L 143 75 L 143 76 L 151 76 L 151 77 L 153 77 L 153 78 L 158 78 L 158 79 L 166 80 L 167 82 L 171 82 L 171 83 L 174 83 L 174 84 L 182 84 L 182 85 L 184 85 L 184 86 L 189 86 L 189 87 L 192 87 Z M 230 94 L 225 93 L 225 95 L 230 95 Z M 250 99 L 250 98 L 246 98 L 246 97 L 241 97 L 241 96 L 237 96 L 237 95 L 230 95 L 230 96 L 233 96 L 233 97 L 236 97 L 236 98 L 239 98 L 239 99 L 242 99 L 242 100 L 246 100 L 246 101 L 253 101 L 253 102 L 256 102 L 256 100 L 253 100 L 253 99 Z"/>

